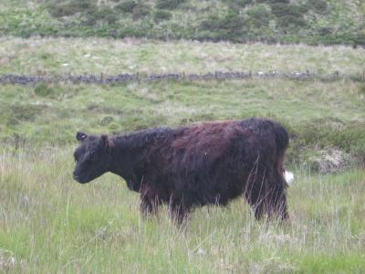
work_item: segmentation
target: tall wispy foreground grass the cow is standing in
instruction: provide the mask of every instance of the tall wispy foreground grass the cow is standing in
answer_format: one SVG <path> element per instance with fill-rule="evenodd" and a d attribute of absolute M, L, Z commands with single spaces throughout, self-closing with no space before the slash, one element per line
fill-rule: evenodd
<path fill-rule="evenodd" d="M 117 176 L 72 180 L 71 147 L 0 155 L 0 269 L 10 272 L 354 273 L 365 270 L 365 173 L 295 171 L 291 224 L 256 222 L 237 199 L 186 229 L 143 219 Z M 5 263 L 7 262 L 7 263 Z"/>

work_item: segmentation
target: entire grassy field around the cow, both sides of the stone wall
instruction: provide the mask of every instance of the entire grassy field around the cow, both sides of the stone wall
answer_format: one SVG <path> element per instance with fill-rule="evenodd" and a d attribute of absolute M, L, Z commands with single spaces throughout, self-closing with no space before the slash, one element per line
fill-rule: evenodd
<path fill-rule="evenodd" d="M 0 39 L 0 74 L 356 73 L 365 56 L 349 47 Z M 365 272 L 364 106 L 365 84 L 349 79 L 1 85 L 0 271 Z M 248 116 L 274 118 L 290 133 L 290 226 L 256 222 L 237 199 L 197 209 L 181 230 L 163 207 L 158 218 L 143 219 L 138 195 L 115 175 L 87 185 L 72 179 L 78 130 L 130 132 Z"/>

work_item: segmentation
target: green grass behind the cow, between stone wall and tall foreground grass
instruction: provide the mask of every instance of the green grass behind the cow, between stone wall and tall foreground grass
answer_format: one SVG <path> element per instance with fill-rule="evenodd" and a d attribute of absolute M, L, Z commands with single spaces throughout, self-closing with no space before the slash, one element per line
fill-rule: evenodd
<path fill-rule="evenodd" d="M 350 80 L 286 79 L 4 85 L 0 139 L 16 146 L 61 145 L 74 142 L 79 130 L 120 133 L 263 116 L 283 122 L 292 135 L 287 163 L 319 169 L 311 159 L 323 158 L 317 152 L 327 148 L 364 161 L 362 89 L 363 83 Z"/>

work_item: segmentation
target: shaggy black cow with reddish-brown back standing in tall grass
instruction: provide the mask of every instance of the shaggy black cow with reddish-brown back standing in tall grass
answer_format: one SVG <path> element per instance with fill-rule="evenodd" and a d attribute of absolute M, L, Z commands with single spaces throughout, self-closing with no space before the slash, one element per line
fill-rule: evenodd
<path fill-rule="evenodd" d="M 283 160 L 287 131 L 276 121 L 203 122 L 126 135 L 77 133 L 74 179 L 88 183 L 101 174 L 118 174 L 141 194 L 141 212 L 169 205 L 182 223 L 198 205 L 226 205 L 245 196 L 258 219 L 287 219 Z"/>

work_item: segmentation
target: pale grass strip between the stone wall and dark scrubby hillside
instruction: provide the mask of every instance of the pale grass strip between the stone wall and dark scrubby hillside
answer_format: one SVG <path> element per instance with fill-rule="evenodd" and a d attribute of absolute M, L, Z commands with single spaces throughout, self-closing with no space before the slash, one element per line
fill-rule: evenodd
<path fill-rule="evenodd" d="M 365 49 L 138 39 L 0 37 L 0 74 L 307 71 L 362 74 Z"/>

